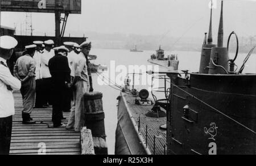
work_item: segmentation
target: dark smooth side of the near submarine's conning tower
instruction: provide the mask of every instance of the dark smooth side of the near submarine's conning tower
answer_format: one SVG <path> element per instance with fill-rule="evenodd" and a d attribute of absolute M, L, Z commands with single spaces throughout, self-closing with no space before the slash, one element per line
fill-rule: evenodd
<path fill-rule="evenodd" d="M 256 154 L 256 75 L 190 74 L 172 81 L 168 154 Z"/>

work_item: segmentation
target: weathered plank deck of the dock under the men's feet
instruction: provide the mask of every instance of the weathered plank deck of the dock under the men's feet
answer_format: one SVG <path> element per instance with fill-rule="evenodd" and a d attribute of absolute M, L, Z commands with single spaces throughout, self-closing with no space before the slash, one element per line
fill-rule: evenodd
<path fill-rule="evenodd" d="M 63 128 L 48 128 L 51 124 L 52 108 L 34 109 L 31 117 L 36 121 L 35 125 L 22 124 L 22 96 L 14 93 L 15 116 L 13 117 L 13 132 L 11 137 L 12 155 L 38 155 L 46 152 L 46 155 L 80 155 L 80 132 Z M 63 122 L 67 124 L 69 113 L 64 113 L 67 118 Z M 44 151 L 44 147 L 46 151 Z"/>

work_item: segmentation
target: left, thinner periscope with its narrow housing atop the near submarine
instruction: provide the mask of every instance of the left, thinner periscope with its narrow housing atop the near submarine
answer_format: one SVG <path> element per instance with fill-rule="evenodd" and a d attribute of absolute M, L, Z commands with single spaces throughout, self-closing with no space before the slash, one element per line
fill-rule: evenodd
<path fill-rule="evenodd" d="M 216 45 L 213 44 L 213 39 L 212 39 L 212 6 L 211 6 L 208 39 L 207 39 L 207 33 L 205 33 L 204 44 L 202 46 L 202 51 L 201 51 L 201 62 L 200 62 L 200 69 L 199 69 L 200 74 L 209 73 L 208 66 L 210 62 L 210 52 L 213 47 L 216 47 Z"/>

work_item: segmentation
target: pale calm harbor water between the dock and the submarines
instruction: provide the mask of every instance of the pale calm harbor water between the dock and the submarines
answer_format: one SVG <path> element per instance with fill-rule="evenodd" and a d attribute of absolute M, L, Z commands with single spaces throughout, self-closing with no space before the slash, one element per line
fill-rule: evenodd
<path fill-rule="evenodd" d="M 118 75 L 119 73 L 121 73 L 121 71 L 116 70 L 118 66 L 121 69 L 123 69 L 123 67 L 126 67 L 127 71 L 129 71 L 128 70 L 129 65 L 130 66 L 152 65 L 147 62 L 147 59 L 150 58 L 151 54 L 154 54 L 154 53 L 155 53 L 155 50 L 144 51 L 144 52 L 130 52 L 130 50 L 120 50 L 120 49 L 92 49 L 90 52 L 90 54 L 97 55 L 97 59 L 95 61 L 92 61 L 92 63 L 108 66 L 109 70 L 106 78 L 109 76 L 112 82 L 115 82 L 114 80 L 115 77 L 110 76 L 110 73 L 112 74 L 115 73 L 115 75 Z M 200 57 L 201 57 L 200 52 L 180 52 L 180 51 L 168 52 L 166 51 L 165 54 L 166 56 L 170 54 L 178 55 L 179 70 L 189 70 L 191 72 L 199 71 L 199 64 L 200 64 Z M 229 57 L 233 58 L 233 56 L 234 56 L 234 53 L 230 53 Z M 238 66 L 238 69 L 240 69 L 240 67 L 242 66 L 243 60 L 245 59 L 246 56 L 247 56 L 246 53 L 238 54 L 238 58 L 236 59 L 236 62 L 235 62 L 236 65 Z M 253 54 L 251 54 L 249 61 L 247 61 L 246 67 L 243 70 L 243 73 L 256 73 L 255 62 L 256 62 L 256 54 L 254 52 Z M 110 71 L 110 69 L 112 71 Z M 146 67 L 146 69 L 148 69 L 148 67 Z M 154 69 L 154 65 L 152 69 Z M 113 71 L 113 70 L 116 70 L 116 71 Z M 118 91 L 117 87 L 115 86 L 110 87 L 108 85 L 102 85 L 102 82 L 100 80 L 102 79 L 101 78 L 99 79 L 97 74 L 93 74 L 94 91 L 103 93 L 102 100 L 103 100 L 103 106 L 104 106 L 104 112 L 105 112 L 105 130 L 107 135 L 106 141 L 108 144 L 109 155 L 113 155 L 114 146 L 115 146 L 115 129 L 117 126 L 117 104 L 118 104 L 117 97 L 120 91 Z M 163 81 L 159 83 L 159 86 L 161 85 L 163 85 Z M 123 86 L 123 85 L 120 84 L 120 86 Z M 115 87 L 115 89 L 113 87 Z M 148 88 L 148 87 L 150 87 L 148 84 L 147 85 L 137 84 L 135 86 L 135 88 L 138 90 L 141 90 L 142 88 Z"/>

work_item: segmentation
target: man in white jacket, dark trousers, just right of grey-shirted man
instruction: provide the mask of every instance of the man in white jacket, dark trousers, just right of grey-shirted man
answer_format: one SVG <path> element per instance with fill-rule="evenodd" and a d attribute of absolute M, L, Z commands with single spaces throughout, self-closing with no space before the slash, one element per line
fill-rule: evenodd
<path fill-rule="evenodd" d="M 36 45 L 36 51 L 34 55 L 34 59 L 36 62 L 36 70 L 35 70 L 35 79 L 36 79 L 36 99 L 35 99 L 35 108 L 44 108 L 43 107 L 43 99 L 42 99 L 42 71 L 41 71 L 41 54 L 43 48 L 43 41 L 34 41 Z"/>

